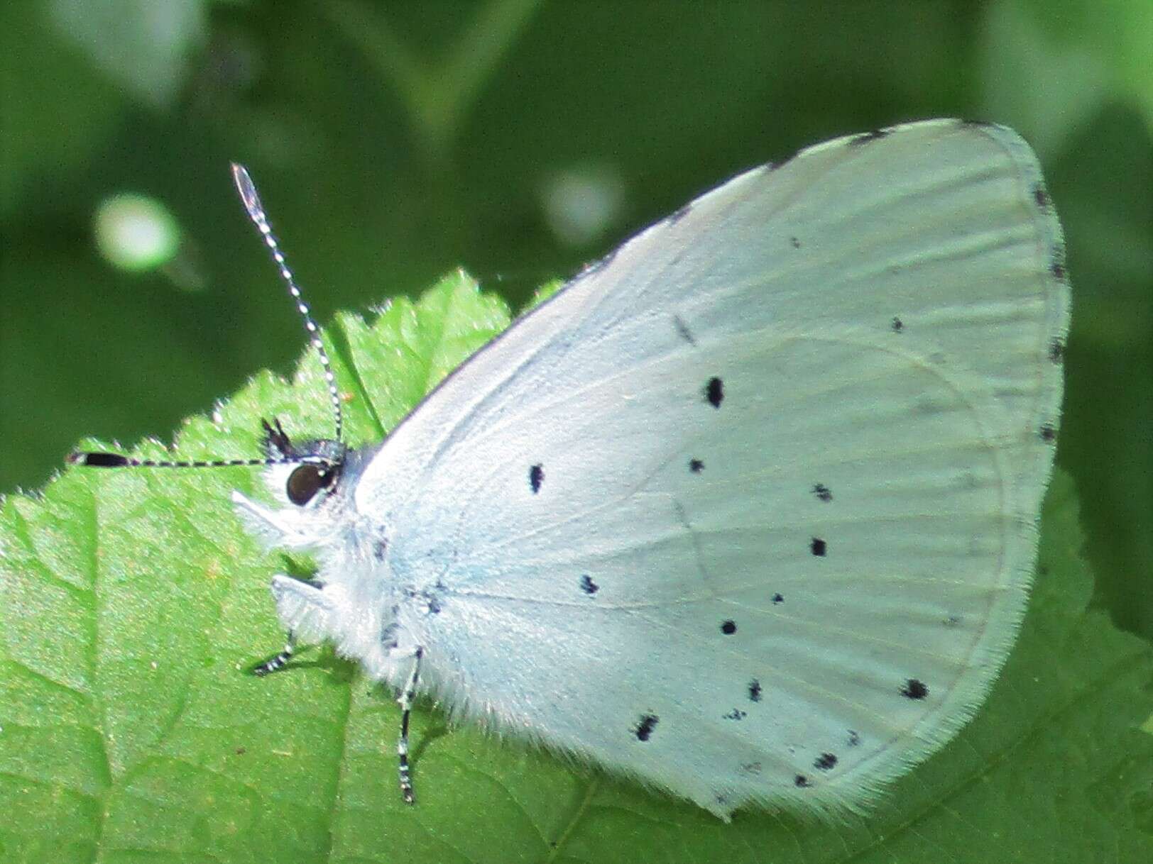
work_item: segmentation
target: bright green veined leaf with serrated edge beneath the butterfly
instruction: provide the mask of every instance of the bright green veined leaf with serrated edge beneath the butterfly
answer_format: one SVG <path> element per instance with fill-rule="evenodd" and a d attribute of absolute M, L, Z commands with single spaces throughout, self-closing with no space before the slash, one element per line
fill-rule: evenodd
<path fill-rule="evenodd" d="M 354 441 L 391 429 L 507 326 L 464 273 L 329 334 Z M 261 417 L 326 434 L 306 356 L 180 432 L 183 457 L 256 453 Z M 89 446 L 103 447 L 90 442 Z M 160 456 L 155 442 L 140 455 Z M 517 741 L 414 714 L 417 804 L 397 788 L 398 708 L 321 651 L 264 680 L 285 569 L 232 513 L 250 469 L 74 469 L 0 510 L 5 862 L 1099 862 L 1153 858 L 1153 657 L 1087 608 L 1058 475 L 1019 643 L 986 707 L 877 808 L 827 824 L 696 808 Z M 515 662 L 517 658 L 510 658 Z M 588 706 L 596 711 L 595 705 Z"/>

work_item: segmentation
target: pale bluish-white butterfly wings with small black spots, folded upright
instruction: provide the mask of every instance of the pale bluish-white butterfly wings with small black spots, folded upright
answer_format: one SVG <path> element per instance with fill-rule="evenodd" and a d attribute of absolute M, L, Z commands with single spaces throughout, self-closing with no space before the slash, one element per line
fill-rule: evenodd
<path fill-rule="evenodd" d="M 751 170 L 480 351 L 355 502 L 424 680 L 721 816 L 845 809 L 1012 642 L 1069 289 L 1027 145 L 929 121 Z"/>

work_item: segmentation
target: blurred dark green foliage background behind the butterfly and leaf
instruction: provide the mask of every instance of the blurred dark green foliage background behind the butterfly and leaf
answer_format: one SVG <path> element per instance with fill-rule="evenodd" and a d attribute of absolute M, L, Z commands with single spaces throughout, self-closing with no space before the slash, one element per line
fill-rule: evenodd
<path fill-rule="evenodd" d="M 1067 230 L 1058 458 L 1098 601 L 1153 638 L 1148 0 L 0 15 L 0 492 L 42 485 L 82 435 L 168 437 L 256 370 L 288 371 L 302 332 L 229 160 L 253 170 L 323 323 L 458 265 L 519 304 L 745 167 L 906 120 L 994 120 L 1033 143 Z M 152 268 L 97 245 L 125 194 L 179 232 Z"/>

